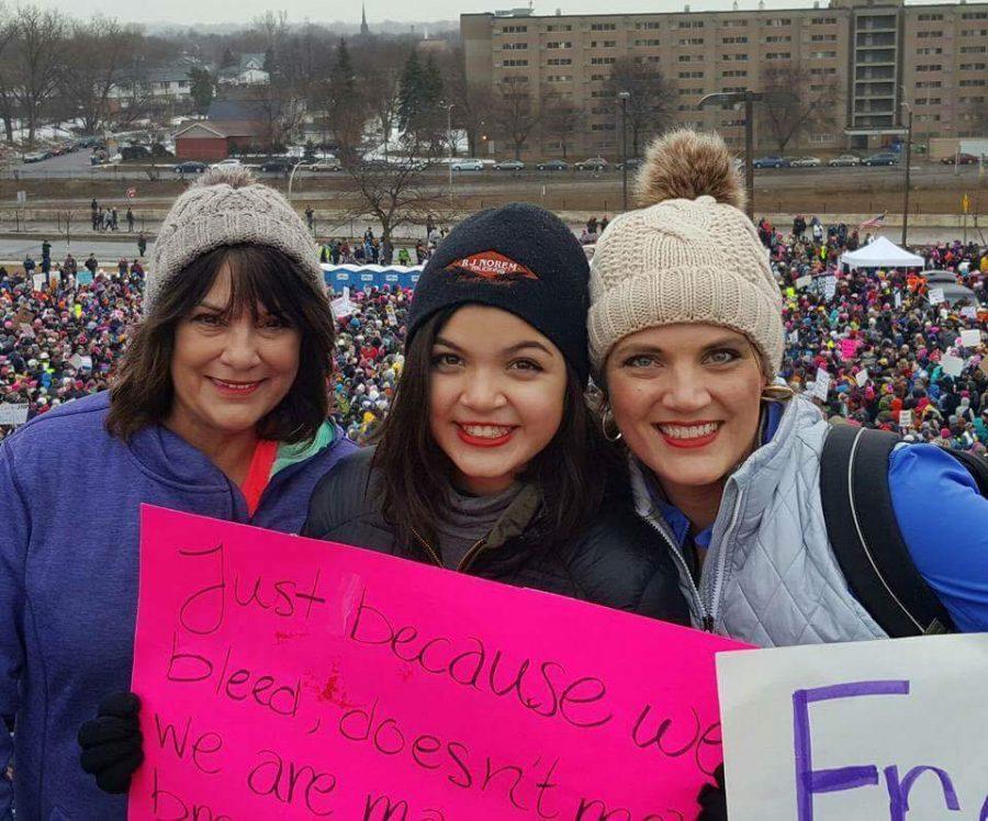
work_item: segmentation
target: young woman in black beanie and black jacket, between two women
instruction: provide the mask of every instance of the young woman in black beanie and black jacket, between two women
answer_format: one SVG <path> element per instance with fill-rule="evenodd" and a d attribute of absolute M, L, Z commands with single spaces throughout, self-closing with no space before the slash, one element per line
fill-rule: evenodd
<path fill-rule="evenodd" d="M 454 228 L 418 281 L 377 447 L 319 483 L 304 535 L 678 620 L 671 558 L 611 492 L 584 400 L 586 278 L 536 206 Z"/>

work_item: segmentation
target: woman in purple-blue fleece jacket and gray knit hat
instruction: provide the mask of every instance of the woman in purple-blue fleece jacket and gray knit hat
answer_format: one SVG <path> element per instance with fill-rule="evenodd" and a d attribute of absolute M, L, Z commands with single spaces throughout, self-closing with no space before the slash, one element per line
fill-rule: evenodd
<path fill-rule="evenodd" d="M 136 730 L 136 702 L 80 726 L 130 683 L 138 506 L 297 531 L 352 449 L 327 423 L 333 341 L 304 224 L 247 171 L 213 171 L 164 222 L 112 390 L 0 443 L 0 817 L 125 818 L 100 787 L 125 790 L 139 760 L 112 730 Z"/>

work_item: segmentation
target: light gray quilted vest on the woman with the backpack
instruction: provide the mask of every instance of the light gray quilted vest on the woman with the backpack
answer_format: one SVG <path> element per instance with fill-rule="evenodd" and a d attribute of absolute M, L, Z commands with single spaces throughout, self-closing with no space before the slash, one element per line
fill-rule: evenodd
<path fill-rule="evenodd" d="M 827 539 L 828 429 L 812 403 L 787 403 L 772 441 L 727 481 L 698 586 L 632 460 L 636 509 L 672 551 L 695 627 L 766 648 L 887 638 L 851 595 Z"/>

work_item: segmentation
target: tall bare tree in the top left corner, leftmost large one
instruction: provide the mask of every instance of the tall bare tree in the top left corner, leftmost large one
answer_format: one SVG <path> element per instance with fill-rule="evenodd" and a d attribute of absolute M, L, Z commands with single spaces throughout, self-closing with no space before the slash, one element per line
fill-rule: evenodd
<path fill-rule="evenodd" d="M 43 106 L 58 88 L 67 21 L 57 10 L 23 5 L 14 12 L 15 31 L 11 90 L 34 142 Z"/>

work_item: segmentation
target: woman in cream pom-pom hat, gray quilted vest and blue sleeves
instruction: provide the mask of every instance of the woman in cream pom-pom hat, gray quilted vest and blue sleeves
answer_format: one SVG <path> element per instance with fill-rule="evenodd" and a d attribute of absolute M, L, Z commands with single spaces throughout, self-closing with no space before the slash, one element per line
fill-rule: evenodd
<path fill-rule="evenodd" d="M 693 623 L 763 646 L 988 630 L 975 475 L 933 446 L 832 432 L 776 384 L 779 289 L 721 139 L 656 140 L 637 194 L 591 265 L 591 361 L 605 434 L 628 448 L 638 515 L 676 562 Z M 875 521 L 883 550 L 902 546 L 890 571 L 868 552 Z"/>

